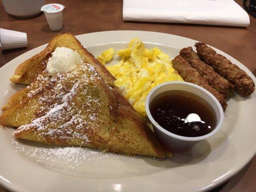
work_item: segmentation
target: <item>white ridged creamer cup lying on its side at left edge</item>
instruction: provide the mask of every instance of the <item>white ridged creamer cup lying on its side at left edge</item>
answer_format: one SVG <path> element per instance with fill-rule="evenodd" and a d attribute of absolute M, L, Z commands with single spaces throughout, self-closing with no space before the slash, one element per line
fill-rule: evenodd
<path fill-rule="evenodd" d="M 0 44 L 2 50 L 27 47 L 27 34 L 0 28 Z"/>

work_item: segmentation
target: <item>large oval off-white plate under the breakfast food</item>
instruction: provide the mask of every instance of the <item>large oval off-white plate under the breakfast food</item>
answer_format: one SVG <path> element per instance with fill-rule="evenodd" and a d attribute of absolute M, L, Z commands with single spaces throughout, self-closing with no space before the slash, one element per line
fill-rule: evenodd
<path fill-rule="evenodd" d="M 193 47 L 196 42 L 181 36 L 144 31 L 108 31 L 77 36 L 94 56 L 106 48 L 125 48 L 134 37 L 145 42 L 147 48 L 157 46 L 171 58 L 178 55 L 181 48 Z M 15 68 L 45 47 L 30 50 L 0 68 L 0 106 L 22 87 L 9 81 Z M 256 82 L 242 63 L 216 50 Z M 73 156 L 77 159 L 70 153 L 69 158 L 63 158 L 56 156 L 63 151 L 57 153 L 55 149 L 45 149 L 32 142 L 13 143 L 13 130 L 0 129 L 0 184 L 17 192 L 207 191 L 228 180 L 254 156 L 255 106 L 256 92 L 248 98 L 233 96 L 228 101 L 224 124 L 218 134 L 172 159 L 100 152 L 95 152 L 97 157 L 93 157 L 86 150 L 82 150 L 82 155 Z"/>

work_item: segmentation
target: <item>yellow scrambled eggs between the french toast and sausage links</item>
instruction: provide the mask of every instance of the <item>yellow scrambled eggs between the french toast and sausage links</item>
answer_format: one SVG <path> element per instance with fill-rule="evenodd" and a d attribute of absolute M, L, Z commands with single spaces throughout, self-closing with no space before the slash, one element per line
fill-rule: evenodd
<path fill-rule="evenodd" d="M 106 68 L 116 78 L 115 86 L 120 88 L 122 94 L 143 117 L 146 117 L 146 96 L 155 86 L 170 81 L 183 81 L 172 68 L 167 54 L 158 48 L 145 48 L 139 38 L 132 39 L 128 48 L 119 50 L 117 54 L 122 60 Z M 114 48 L 109 48 L 98 56 L 98 60 L 105 65 L 114 55 Z"/>

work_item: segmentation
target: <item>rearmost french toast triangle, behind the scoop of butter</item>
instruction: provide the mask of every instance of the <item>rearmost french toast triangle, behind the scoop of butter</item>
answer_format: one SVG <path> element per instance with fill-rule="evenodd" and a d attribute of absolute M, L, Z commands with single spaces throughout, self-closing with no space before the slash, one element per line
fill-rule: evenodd
<path fill-rule="evenodd" d="M 44 50 L 21 63 L 16 68 L 14 75 L 10 78 L 12 83 L 31 84 L 37 75 L 45 70 L 47 61 L 51 56 L 51 52 L 53 52 L 57 47 L 71 48 L 72 50 L 75 50 L 85 62 L 92 64 L 97 69 L 107 84 L 114 86 L 115 78 L 81 45 L 75 36 L 70 33 L 55 36 L 51 39 Z"/>

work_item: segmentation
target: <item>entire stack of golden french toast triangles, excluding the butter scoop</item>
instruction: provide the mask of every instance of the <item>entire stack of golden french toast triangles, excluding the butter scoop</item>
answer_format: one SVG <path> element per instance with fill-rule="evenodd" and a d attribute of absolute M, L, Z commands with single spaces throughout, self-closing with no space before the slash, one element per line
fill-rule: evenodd
<path fill-rule="evenodd" d="M 90 64 L 85 63 L 87 68 L 81 67 L 80 71 L 71 72 L 73 77 L 66 77 L 71 73 L 51 77 L 44 69 L 50 53 L 56 47 L 72 48 Z M 93 78 L 92 71 L 88 71 L 90 66 L 99 78 Z M 86 70 L 81 72 L 82 69 Z M 24 61 L 15 70 L 11 81 L 30 85 L 10 97 L 3 107 L 0 124 L 19 127 L 14 133 L 15 138 L 43 144 L 85 146 L 128 155 L 163 157 L 155 135 L 114 87 L 114 80 L 110 72 L 73 35 L 58 35 L 43 51 Z M 51 112 L 64 105 L 67 98 L 63 98 L 72 92 L 77 82 L 80 83 L 75 89 L 75 96 L 71 98 L 72 102 L 67 102 L 60 109 L 62 112 L 52 119 L 55 116 Z M 99 101 L 87 106 L 88 98 L 91 98 L 88 93 Z M 73 120 L 77 116 L 82 121 L 79 118 Z M 77 126 L 81 129 L 77 129 Z"/>

